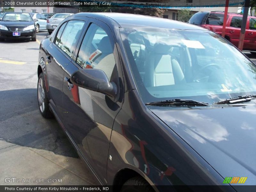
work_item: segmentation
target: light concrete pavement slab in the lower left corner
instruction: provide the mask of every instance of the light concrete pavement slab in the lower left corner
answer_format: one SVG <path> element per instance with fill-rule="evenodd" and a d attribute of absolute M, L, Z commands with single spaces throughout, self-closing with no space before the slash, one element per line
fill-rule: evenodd
<path fill-rule="evenodd" d="M 56 155 L 53 152 L 22 147 L 0 140 L 0 185 L 97 185 L 98 182 L 81 159 Z M 5 182 L 5 178 L 26 180 Z M 31 181 L 34 183 L 31 183 Z M 36 181 L 36 179 L 39 179 Z M 42 182 L 44 179 L 44 182 Z M 48 179 L 62 180 L 49 183 Z M 8 181 L 8 179 L 7 179 Z M 54 180 L 52 180 L 54 181 Z"/>

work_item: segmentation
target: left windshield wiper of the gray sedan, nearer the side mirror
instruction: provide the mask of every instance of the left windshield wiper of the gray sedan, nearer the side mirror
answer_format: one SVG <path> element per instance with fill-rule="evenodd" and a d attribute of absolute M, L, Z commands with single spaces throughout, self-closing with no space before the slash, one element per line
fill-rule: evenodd
<path fill-rule="evenodd" d="M 146 103 L 146 105 L 156 105 L 156 106 L 209 106 L 208 103 L 198 102 L 198 101 L 194 101 L 194 100 L 184 100 L 184 99 L 156 101 L 156 102 Z"/>

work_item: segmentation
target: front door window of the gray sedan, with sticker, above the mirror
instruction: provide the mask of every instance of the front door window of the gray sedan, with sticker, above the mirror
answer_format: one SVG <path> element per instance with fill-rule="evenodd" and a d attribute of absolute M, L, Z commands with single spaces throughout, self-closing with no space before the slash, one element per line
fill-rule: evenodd
<path fill-rule="evenodd" d="M 82 68 L 103 70 L 110 80 L 116 65 L 113 50 L 114 45 L 106 31 L 92 23 L 84 36 L 76 62 Z"/>

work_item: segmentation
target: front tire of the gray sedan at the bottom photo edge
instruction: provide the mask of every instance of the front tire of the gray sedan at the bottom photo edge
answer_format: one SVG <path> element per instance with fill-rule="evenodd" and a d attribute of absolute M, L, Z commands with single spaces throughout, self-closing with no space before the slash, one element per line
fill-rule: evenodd
<path fill-rule="evenodd" d="M 142 177 L 133 177 L 125 181 L 121 192 L 155 192 L 148 182 Z"/>

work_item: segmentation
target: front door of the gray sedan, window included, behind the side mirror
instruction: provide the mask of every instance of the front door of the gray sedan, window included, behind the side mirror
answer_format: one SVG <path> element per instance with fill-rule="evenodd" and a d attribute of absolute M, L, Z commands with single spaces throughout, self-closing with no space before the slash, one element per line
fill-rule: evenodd
<path fill-rule="evenodd" d="M 121 96 L 115 102 L 105 94 L 71 85 L 69 78 L 76 70 L 98 68 L 120 92 L 123 89 L 119 79 L 123 78 L 119 78 L 122 70 L 110 28 L 94 19 L 88 25 L 76 50 L 76 62 L 72 61 L 64 74 L 64 126 L 98 178 L 107 184 L 108 147 L 114 119 L 122 106 Z"/>

